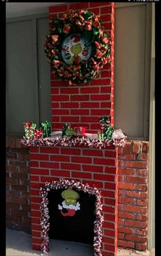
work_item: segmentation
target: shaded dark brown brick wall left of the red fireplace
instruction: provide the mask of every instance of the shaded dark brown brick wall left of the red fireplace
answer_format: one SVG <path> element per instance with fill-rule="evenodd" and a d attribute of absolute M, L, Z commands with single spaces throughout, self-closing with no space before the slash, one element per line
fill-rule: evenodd
<path fill-rule="evenodd" d="M 29 148 L 6 137 L 6 226 L 31 233 Z"/>

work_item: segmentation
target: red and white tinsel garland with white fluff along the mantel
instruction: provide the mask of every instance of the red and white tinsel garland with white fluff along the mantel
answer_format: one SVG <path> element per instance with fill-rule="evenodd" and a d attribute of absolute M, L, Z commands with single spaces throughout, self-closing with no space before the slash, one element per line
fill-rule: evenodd
<path fill-rule="evenodd" d="M 23 137 L 21 139 L 21 143 L 24 146 L 64 146 L 64 147 L 72 147 L 72 146 L 83 146 L 87 148 L 106 148 L 110 145 L 114 145 L 117 147 L 124 147 L 126 144 L 126 135 L 123 134 L 121 129 L 114 130 L 113 136 L 111 140 L 104 139 L 104 141 L 100 141 L 97 138 L 97 134 L 86 133 L 85 137 L 61 137 L 61 132 L 52 132 L 53 137 L 40 138 L 40 139 L 27 139 Z"/>

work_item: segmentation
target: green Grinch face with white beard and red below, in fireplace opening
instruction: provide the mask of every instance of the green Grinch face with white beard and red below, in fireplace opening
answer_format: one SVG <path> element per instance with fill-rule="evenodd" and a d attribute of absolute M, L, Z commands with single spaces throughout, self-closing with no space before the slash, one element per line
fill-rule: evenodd
<path fill-rule="evenodd" d="M 61 205 L 58 205 L 58 209 L 61 211 L 62 216 L 74 216 L 76 211 L 80 210 L 80 203 L 76 202 L 80 198 L 79 194 L 73 189 L 65 189 L 61 193 L 63 202 Z M 63 212 L 65 209 L 67 212 Z"/>

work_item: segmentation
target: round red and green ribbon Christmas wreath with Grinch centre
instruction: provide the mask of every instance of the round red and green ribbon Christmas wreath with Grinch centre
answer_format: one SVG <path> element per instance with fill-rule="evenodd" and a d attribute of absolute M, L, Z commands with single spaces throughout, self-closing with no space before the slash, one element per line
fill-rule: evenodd
<path fill-rule="evenodd" d="M 44 47 L 51 72 L 70 85 L 91 82 L 111 60 L 110 36 L 100 16 L 88 10 L 55 16 Z"/>

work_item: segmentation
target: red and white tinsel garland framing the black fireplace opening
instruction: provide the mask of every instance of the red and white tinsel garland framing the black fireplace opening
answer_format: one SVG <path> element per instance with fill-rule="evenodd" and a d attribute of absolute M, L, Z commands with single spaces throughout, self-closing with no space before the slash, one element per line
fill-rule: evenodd
<path fill-rule="evenodd" d="M 93 237 L 93 248 L 94 256 L 102 256 L 101 243 L 102 243 L 102 222 L 104 220 L 102 216 L 102 203 L 101 194 L 96 187 L 90 187 L 88 184 L 81 182 L 75 182 L 74 180 L 68 181 L 60 178 L 59 181 L 53 181 L 51 183 L 46 182 L 44 187 L 40 188 L 42 195 L 42 202 L 40 205 L 41 211 L 41 226 L 42 226 L 42 244 L 41 248 L 43 253 L 47 254 L 49 251 L 49 237 L 48 231 L 50 229 L 49 215 L 48 215 L 48 191 L 50 189 L 75 189 L 77 191 L 83 191 L 96 197 L 95 202 L 95 215 L 96 220 L 94 222 L 94 237 Z"/>

